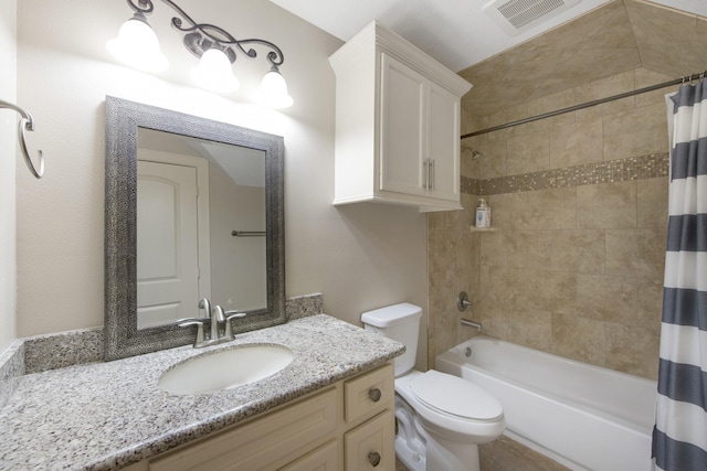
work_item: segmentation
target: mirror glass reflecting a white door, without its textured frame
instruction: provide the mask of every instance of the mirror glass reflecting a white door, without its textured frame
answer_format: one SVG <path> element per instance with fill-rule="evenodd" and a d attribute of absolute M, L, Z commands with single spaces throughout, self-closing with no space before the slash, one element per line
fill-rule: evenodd
<path fill-rule="evenodd" d="M 138 128 L 137 327 L 267 308 L 265 152 Z"/>

